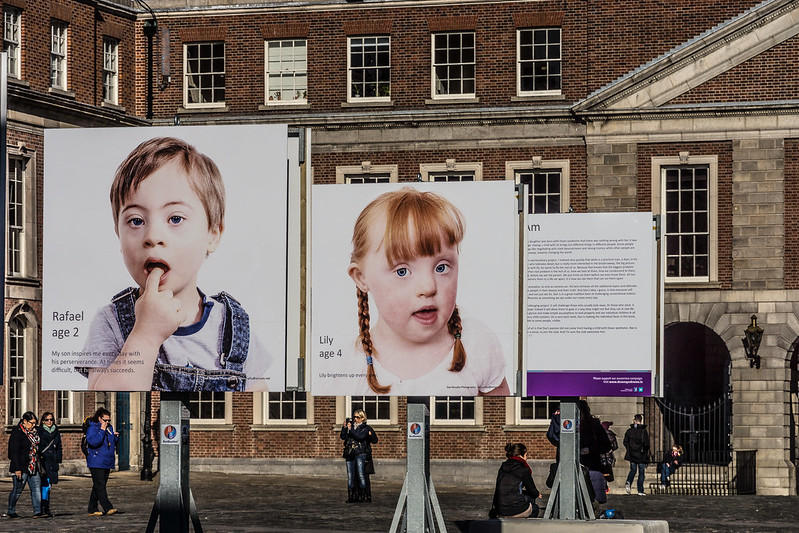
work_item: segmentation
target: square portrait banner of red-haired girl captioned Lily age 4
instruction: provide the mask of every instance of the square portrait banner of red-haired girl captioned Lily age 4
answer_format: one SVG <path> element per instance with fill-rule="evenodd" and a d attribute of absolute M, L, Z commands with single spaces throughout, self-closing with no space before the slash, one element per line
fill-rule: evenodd
<path fill-rule="evenodd" d="M 512 395 L 508 181 L 314 185 L 311 393 Z"/>

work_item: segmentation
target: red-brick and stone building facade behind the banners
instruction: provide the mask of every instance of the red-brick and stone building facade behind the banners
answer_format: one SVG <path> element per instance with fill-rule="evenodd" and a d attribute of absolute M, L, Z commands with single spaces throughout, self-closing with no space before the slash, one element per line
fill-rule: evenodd
<path fill-rule="evenodd" d="M 731 399 L 731 449 L 757 450 L 760 493 L 796 492 L 799 242 L 789 215 L 799 208 L 799 3 L 148 3 L 152 102 L 144 30 L 153 14 L 138 3 L 3 2 L 9 187 L 24 191 L 9 215 L 20 216 L 9 231 L 21 244 L 6 269 L 6 424 L 20 409 L 55 410 L 74 432 L 108 405 L 130 422 L 130 463 L 141 463 L 145 395 L 38 387 L 43 129 L 288 123 L 311 132 L 313 183 L 514 180 L 544 210 L 664 215 L 675 244 L 665 247 L 663 323 L 672 333 L 701 325 L 725 347 L 711 367 L 705 346 L 683 353 L 667 343 L 665 394 L 680 400 L 685 387 L 669 381 L 670 367 L 729 371 L 729 387 L 712 392 Z M 672 202 L 681 194 L 692 203 Z M 759 369 L 740 341 L 753 314 L 765 330 Z M 621 428 L 647 403 L 590 401 Z M 402 469 L 403 398 L 291 391 L 193 402 L 197 468 L 333 468 L 341 422 L 365 405 L 384 472 Z M 550 460 L 553 405 L 432 400 L 437 471 L 485 480 L 508 440 Z M 68 436 L 77 464 L 77 434 Z"/>

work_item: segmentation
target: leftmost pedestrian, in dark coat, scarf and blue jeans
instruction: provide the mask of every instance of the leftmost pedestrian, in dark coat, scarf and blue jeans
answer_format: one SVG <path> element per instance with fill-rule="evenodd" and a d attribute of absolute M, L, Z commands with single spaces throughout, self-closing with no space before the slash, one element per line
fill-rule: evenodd
<path fill-rule="evenodd" d="M 8 437 L 8 458 L 11 461 L 11 492 L 8 495 L 7 518 L 19 518 L 17 500 L 25 485 L 31 491 L 33 517 L 42 516 L 42 483 L 39 477 L 39 433 L 36 413 L 26 411 Z"/>

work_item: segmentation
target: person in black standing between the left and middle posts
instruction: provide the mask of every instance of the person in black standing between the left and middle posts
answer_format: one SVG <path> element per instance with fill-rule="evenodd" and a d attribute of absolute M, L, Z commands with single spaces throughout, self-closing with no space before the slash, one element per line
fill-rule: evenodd
<path fill-rule="evenodd" d="M 358 409 L 353 419 L 348 418 L 341 428 L 347 464 L 347 503 L 372 502 L 369 476 L 375 473 L 372 444 L 377 444 L 377 433 L 366 422 L 366 413 Z"/>

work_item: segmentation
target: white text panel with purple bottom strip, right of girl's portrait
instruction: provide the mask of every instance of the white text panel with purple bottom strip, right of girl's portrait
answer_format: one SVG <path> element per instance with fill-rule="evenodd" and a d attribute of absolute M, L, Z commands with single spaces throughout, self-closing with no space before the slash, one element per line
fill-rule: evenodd
<path fill-rule="evenodd" d="M 528 396 L 650 396 L 651 213 L 527 215 Z"/>

